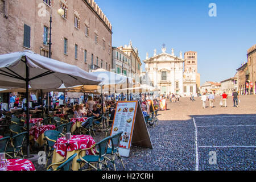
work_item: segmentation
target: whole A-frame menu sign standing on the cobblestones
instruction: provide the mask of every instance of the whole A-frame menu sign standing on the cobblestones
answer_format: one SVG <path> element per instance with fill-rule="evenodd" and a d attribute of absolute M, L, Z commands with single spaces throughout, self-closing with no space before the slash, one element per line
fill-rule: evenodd
<path fill-rule="evenodd" d="M 123 131 L 119 154 L 128 157 L 131 144 L 152 148 L 150 134 L 138 101 L 117 102 L 110 136 Z"/>

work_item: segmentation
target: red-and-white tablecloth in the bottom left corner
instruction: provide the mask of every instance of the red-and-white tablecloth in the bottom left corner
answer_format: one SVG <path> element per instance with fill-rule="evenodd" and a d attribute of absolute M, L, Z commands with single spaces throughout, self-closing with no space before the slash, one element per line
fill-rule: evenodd
<path fill-rule="evenodd" d="M 7 171 L 35 171 L 34 164 L 27 159 L 8 159 Z"/>

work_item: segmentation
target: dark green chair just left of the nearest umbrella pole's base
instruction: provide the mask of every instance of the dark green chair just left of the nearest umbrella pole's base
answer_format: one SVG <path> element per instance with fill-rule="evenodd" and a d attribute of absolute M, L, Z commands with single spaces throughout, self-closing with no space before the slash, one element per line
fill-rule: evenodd
<path fill-rule="evenodd" d="M 24 158 L 24 155 L 22 152 L 22 146 L 23 146 L 24 139 L 26 138 L 26 134 L 27 134 L 27 131 L 20 133 L 18 135 L 15 135 L 14 137 L 11 138 L 11 146 L 9 145 L 6 148 L 6 154 L 8 156 L 13 158 L 9 154 L 14 154 L 14 158 L 16 158 L 16 155 L 19 153 L 22 156 L 22 158 Z"/>

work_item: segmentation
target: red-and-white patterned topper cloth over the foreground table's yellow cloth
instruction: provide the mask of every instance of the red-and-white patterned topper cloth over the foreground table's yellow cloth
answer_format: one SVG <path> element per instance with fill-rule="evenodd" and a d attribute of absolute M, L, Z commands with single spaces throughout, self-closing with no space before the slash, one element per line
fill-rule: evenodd
<path fill-rule="evenodd" d="M 57 139 L 54 144 L 56 152 L 61 156 L 66 157 L 67 152 L 82 150 L 85 148 L 90 148 L 95 144 L 93 138 L 89 135 L 72 135 L 72 139 L 67 141 L 65 137 Z M 93 151 L 95 152 L 95 151 Z M 86 151 L 86 155 L 93 155 L 91 150 Z"/>

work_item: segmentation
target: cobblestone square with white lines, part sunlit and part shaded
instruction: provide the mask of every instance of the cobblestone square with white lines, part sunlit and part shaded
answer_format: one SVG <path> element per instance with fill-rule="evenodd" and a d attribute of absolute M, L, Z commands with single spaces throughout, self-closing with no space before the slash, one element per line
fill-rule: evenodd
<path fill-rule="evenodd" d="M 240 100 L 240 107 L 233 107 L 229 97 L 224 108 L 217 97 L 215 107 L 206 109 L 200 98 L 167 102 L 168 110 L 158 113 L 159 125 L 148 127 L 153 149 L 132 146 L 123 158 L 125 170 L 255 170 L 256 96 Z M 117 169 L 124 170 L 118 160 Z"/>

